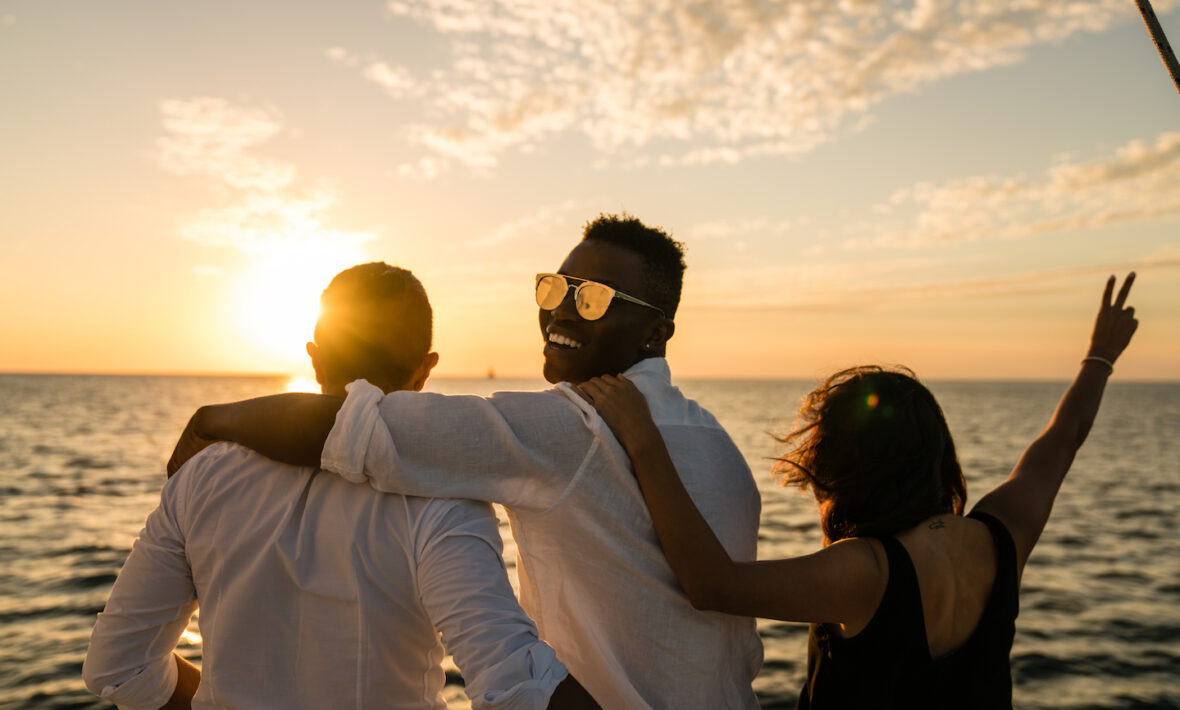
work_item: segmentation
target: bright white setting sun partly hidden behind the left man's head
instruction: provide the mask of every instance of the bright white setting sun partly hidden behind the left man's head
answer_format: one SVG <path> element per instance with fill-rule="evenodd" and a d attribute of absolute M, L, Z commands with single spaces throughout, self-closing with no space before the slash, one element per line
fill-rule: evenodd
<path fill-rule="evenodd" d="M 273 367 L 307 369 L 304 343 L 320 313 L 320 292 L 332 277 L 363 263 L 355 245 L 300 242 L 260 255 L 242 275 L 232 308 L 245 342 Z"/>

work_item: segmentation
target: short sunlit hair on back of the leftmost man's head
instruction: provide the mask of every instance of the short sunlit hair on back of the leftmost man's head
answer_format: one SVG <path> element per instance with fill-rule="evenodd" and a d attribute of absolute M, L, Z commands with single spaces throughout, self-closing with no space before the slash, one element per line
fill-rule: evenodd
<path fill-rule="evenodd" d="M 315 342 L 336 377 L 408 382 L 431 349 L 433 311 L 421 282 L 385 262 L 337 274 L 320 296 Z"/>

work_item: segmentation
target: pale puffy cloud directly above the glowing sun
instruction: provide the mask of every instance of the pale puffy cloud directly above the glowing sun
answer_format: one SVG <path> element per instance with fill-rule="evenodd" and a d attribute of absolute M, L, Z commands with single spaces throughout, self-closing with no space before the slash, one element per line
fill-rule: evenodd
<path fill-rule="evenodd" d="M 293 164 L 256 155 L 283 132 L 277 111 L 212 97 L 168 99 L 159 109 L 165 131 L 157 139 L 160 166 L 230 189 L 227 204 L 182 219 L 184 238 L 253 255 L 329 246 L 352 254 L 372 239 L 326 225 L 339 203 L 328 184 L 299 186 Z"/>

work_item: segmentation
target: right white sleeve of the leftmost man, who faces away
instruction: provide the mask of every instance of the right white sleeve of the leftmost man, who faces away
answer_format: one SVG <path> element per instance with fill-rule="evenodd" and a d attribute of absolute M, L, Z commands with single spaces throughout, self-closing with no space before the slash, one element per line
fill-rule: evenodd
<path fill-rule="evenodd" d="M 418 537 L 418 591 L 472 708 L 545 708 L 568 671 L 517 603 L 487 504 L 437 500 Z"/>

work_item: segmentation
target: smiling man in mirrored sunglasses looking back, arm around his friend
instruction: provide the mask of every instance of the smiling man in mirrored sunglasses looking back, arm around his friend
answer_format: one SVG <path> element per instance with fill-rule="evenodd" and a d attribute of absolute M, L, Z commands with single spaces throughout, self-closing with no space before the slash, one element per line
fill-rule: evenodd
<path fill-rule="evenodd" d="M 735 559 L 754 559 L 761 504 L 753 476 L 716 420 L 671 386 L 663 357 L 683 271 L 667 234 L 602 216 L 557 274 L 537 276 L 553 388 L 382 395 L 354 382 L 342 407 L 315 395 L 204 407 L 170 467 L 191 441 L 230 439 L 380 491 L 500 502 L 517 543 L 522 605 L 604 708 L 756 708 L 750 683 L 762 646 L 753 619 L 693 609 L 627 454 L 573 387 L 603 374 L 630 377 L 714 532 Z"/>

